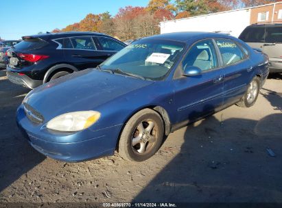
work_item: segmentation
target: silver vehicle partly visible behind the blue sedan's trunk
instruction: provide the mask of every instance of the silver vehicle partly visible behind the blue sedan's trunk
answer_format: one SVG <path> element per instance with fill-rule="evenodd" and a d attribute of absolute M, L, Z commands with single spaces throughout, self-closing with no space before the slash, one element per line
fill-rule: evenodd
<path fill-rule="evenodd" d="M 270 73 L 282 73 L 282 24 L 250 25 L 239 39 L 268 55 Z"/>

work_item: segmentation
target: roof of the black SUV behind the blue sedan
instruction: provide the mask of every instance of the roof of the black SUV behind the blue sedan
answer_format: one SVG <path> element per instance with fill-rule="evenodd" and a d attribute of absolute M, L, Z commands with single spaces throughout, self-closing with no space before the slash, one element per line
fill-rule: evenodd
<path fill-rule="evenodd" d="M 40 38 L 43 40 L 49 40 L 54 38 L 65 38 L 71 36 L 108 36 L 106 34 L 92 32 L 92 31 L 67 31 L 67 32 L 58 32 L 58 33 L 46 33 L 46 34 L 36 34 L 32 36 L 23 36 L 22 38 Z M 108 36 L 110 37 L 110 36 Z"/>

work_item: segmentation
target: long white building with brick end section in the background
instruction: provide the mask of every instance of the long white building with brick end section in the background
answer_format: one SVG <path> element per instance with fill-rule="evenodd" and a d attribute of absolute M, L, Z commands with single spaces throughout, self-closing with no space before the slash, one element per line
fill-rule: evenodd
<path fill-rule="evenodd" d="M 248 25 L 282 23 L 282 2 L 161 22 L 161 34 L 175 31 L 213 31 L 238 37 Z"/>

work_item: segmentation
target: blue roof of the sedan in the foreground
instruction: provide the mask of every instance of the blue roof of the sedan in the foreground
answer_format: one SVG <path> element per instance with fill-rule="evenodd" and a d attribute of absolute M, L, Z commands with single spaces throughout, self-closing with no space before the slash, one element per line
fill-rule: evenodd
<path fill-rule="evenodd" d="M 226 34 L 219 34 L 219 33 L 211 33 L 211 32 L 204 32 L 204 31 L 183 31 L 183 32 L 174 32 L 169 34 L 161 34 L 150 36 L 148 38 L 143 38 L 142 40 L 149 40 L 149 39 L 165 39 L 165 40 L 175 40 L 181 42 L 191 42 L 194 40 L 200 40 L 204 38 L 230 38 L 234 39 L 232 36 L 228 36 Z"/>

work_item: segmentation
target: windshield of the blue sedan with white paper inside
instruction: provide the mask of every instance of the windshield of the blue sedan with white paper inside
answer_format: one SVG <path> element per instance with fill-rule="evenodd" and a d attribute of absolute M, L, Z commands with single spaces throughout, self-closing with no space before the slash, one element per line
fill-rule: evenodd
<path fill-rule="evenodd" d="M 178 60 L 184 46 L 184 43 L 167 40 L 140 40 L 110 57 L 100 69 L 161 80 Z"/>

